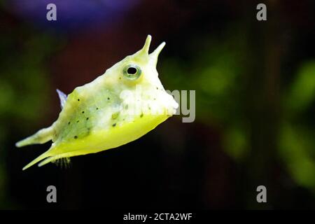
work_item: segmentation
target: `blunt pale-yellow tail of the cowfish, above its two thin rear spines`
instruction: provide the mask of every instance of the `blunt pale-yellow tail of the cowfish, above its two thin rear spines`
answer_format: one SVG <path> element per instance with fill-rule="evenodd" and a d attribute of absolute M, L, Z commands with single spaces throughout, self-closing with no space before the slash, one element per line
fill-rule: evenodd
<path fill-rule="evenodd" d="M 27 137 L 26 139 L 23 139 L 22 141 L 18 141 L 15 146 L 16 147 L 22 147 L 27 146 L 31 144 L 43 144 L 49 140 L 52 139 L 54 134 L 53 126 L 43 128 L 36 132 L 35 134 L 31 135 L 30 137 Z"/>

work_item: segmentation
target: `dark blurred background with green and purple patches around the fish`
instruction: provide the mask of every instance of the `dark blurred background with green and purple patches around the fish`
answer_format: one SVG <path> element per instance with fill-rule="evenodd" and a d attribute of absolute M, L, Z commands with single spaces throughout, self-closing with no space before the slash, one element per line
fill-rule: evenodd
<path fill-rule="evenodd" d="M 0 0 L 0 209 L 315 209 L 315 2 L 263 1 L 267 21 L 258 3 Z M 167 43 L 165 89 L 196 91 L 195 121 L 22 172 L 50 143 L 15 142 L 57 119 L 55 90 L 94 80 L 147 34 L 151 50 Z"/>

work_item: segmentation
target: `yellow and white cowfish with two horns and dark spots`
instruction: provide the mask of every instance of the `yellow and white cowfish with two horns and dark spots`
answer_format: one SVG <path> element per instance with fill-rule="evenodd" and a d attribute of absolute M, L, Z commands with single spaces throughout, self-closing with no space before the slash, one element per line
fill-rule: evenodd
<path fill-rule="evenodd" d="M 22 147 L 52 140 L 52 145 L 23 170 L 41 160 L 38 167 L 122 146 L 174 115 L 179 105 L 165 91 L 156 70 L 165 42 L 149 54 L 150 43 L 148 35 L 141 50 L 68 96 L 57 90 L 62 111 L 55 123 L 16 144 Z"/>

